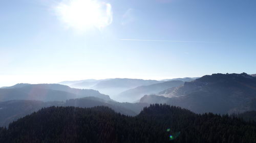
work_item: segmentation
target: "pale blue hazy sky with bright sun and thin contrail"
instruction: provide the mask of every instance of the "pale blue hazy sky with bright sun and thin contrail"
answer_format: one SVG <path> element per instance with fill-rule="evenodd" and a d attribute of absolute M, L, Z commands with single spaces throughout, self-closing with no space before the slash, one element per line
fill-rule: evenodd
<path fill-rule="evenodd" d="M 256 73 L 254 0 L 1 0 L 0 86 Z"/>

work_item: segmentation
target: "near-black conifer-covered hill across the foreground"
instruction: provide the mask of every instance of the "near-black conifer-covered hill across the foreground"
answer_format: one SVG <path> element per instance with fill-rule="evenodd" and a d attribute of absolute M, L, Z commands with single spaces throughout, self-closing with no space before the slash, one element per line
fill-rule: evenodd
<path fill-rule="evenodd" d="M 0 142 L 256 142 L 255 123 L 168 105 L 136 117 L 109 107 L 48 107 L 0 129 Z"/>

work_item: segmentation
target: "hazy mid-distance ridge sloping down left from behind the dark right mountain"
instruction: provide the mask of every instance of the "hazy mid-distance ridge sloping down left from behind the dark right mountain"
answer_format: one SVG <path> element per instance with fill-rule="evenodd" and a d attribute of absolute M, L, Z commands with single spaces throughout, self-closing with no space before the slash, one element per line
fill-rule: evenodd
<path fill-rule="evenodd" d="M 144 95 L 157 94 L 168 88 L 178 87 L 183 83 L 184 82 L 180 80 L 173 80 L 151 85 L 142 85 L 134 89 L 126 90 L 120 93 L 118 96 L 122 98 L 123 101 L 133 102 L 139 100 Z"/>

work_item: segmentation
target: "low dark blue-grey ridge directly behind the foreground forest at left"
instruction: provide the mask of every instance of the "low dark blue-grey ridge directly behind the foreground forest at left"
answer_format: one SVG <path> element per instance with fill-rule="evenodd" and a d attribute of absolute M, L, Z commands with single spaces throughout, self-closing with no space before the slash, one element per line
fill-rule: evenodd
<path fill-rule="evenodd" d="M 75 107 L 95 107 L 108 106 L 116 112 L 123 115 L 135 116 L 147 103 L 120 103 L 114 101 L 105 101 L 97 97 L 84 97 L 79 99 L 69 99 L 65 102 L 43 102 L 33 100 L 12 100 L 0 102 L 0 127 L 8 126 L 9 123 L 16 121 L 19 118 L 25 117 L 34 111 L 38 111 L 42 107 L 49 106 L 75 106 Z"/>

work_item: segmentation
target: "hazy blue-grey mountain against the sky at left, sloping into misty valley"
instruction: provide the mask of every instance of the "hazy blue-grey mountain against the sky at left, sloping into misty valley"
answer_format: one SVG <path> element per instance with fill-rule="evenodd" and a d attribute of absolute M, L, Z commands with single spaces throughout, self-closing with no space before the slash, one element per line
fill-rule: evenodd
<path fill-rule="evenodd" d="M 0 101 L 8 100 L 40 100 L 65 101 L 72 98 L 94 96 L 104 100 L 111 100 L 95 90 L 73 89 L 61 84 L 25 84 L 19 83 L 12 87 L 0 89 Z"/>

